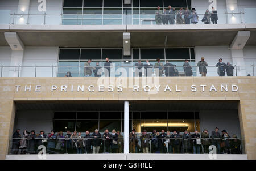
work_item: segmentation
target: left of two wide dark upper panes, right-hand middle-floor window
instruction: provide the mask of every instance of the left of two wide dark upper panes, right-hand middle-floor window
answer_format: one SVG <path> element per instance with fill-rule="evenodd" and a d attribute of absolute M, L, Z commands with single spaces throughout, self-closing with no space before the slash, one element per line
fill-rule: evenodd
<path fill-rule="evenodd" d="M 164 59 L 164 49 L 141 49 L 141 59 Z"/>

